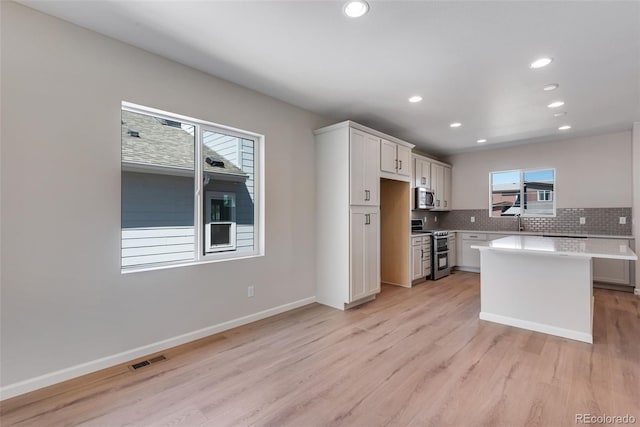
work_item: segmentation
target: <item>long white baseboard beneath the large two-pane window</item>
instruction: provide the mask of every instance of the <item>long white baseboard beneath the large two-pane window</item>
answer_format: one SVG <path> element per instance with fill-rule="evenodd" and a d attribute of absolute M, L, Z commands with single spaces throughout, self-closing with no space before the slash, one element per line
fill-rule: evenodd
<path fill-rule="evenodd" d="M 208 337 L 213 334 L 224 332 L 226 330 L 246 325 L 247 323 L 255 322 L 257 320 L 265 319 L 267 317 L 274 316 L 276 314 L 284 313 L 285 311 L 293 310 L 298 307 L 302 307 L 316 302 L 316 297 L 310 297 L 294 301 L 288 304 L 284 304 L 278 307 L 270 308 L 268 310 L 260 311 L 258 313 L 250 314 L 248 316 L 240 317 L 237 319 L 229 320 L 228 322 L 219 323 L 217 325 L 208 326 L 197 331 L 188 332 L 177 337 L 169 338 L 166 340 L 158 341 L 153 344 L 145 345 L 142 347 L 127 350 L 122 353 L 114 354 L 111 356 L 103 357 L 100 359 L 92 360 L 90 362 L 82 363 L 80 365 L 71 366 L 69 368 L 61 369 L 59 371 L 50 372 L 48 374 L 40 375 L 35 378 L 20 381 L 14 384 L 9 384 L 0 388 L 0 400 L 9 399 L 20 394 L 28 393 L 43 387 L 48 387 L 53 384 L 57 384 L 63 381 L 67 381 L 73 378 L 80 377 L 92 372 L 99 371 L 101 369 L 110 368 L 121 363 L 129 362 L 131 360 L 157 353 L 159 351 L 166 350 L 171 347 L 175 347 L 181 344 L 185 344 L 191 341 L 198 340 L 200 338 Z"/>

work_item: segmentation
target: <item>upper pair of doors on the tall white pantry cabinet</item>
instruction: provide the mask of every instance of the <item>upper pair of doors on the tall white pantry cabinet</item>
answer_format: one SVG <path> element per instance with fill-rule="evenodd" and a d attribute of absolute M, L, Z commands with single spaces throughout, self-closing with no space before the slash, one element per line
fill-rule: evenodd
<path fill-rule="evenodd" d="M 378 206 L 380 138 L 349 129 L 349 200 L 352 205 Z"/>

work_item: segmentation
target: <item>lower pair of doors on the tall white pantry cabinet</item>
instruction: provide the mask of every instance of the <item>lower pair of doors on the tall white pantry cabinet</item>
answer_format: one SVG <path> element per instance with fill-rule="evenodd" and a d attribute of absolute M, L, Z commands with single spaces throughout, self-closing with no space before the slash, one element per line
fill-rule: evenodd
<path fill-rule="evenodd" d="M 380 292 L 380 212 L 352 206 L 349 303 Z"/>

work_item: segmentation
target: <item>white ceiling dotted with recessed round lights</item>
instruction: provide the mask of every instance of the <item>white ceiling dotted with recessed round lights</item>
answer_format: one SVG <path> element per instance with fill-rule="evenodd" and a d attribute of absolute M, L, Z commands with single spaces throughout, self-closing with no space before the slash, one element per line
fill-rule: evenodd
<path fill-rule="evenodd" d="M 359 19 L 335 1 L 20 3 L 435 155 L 640 120 L 640 1 L 370 1 Z"/>

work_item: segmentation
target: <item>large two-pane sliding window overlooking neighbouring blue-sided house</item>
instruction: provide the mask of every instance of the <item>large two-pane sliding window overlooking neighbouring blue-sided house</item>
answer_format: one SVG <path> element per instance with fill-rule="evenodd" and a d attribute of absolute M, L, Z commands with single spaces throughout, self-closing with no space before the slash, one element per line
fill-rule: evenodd
<path fill-rule="evenodd" d="M 129 103 L 121 126 L 123 271 L 263 253 L 261 135 Z"/>

